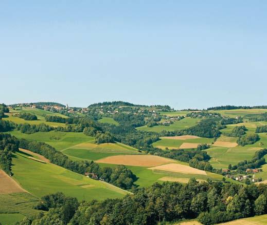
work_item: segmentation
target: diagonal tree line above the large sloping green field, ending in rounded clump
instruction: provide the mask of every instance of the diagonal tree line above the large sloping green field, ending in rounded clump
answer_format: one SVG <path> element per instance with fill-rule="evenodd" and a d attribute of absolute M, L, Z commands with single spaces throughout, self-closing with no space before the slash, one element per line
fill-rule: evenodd
<path fill-rule="evenodd" d="M 94 171 L 101 177 L 104 170 L 111 171 L 111 174 L 109 176 L 105 174 L 105 177 L 109 177 L 109 179 L 106 179 L 107 182 L 112 182 L 114 185 L 124 189 L 130 189 L 133 186 L 133 180 L 135 176 L 133 175 L 131 170 L 127 168 L 117 166 L 114 169 L 106 167 L 102 170 L 99 168 L 99 165 L 93 161 L 70 160 L 62 152 L 59 152 L 55 148 L 40 141 L 29 141 L 21 139 L 20 148 L 28 149 L 32 152 L 43 155 L 52 163 L 76 173 L 84 174 L 85 172 Z M 98 168 L 97 170 L 94 169 L 96 167 Z"/>

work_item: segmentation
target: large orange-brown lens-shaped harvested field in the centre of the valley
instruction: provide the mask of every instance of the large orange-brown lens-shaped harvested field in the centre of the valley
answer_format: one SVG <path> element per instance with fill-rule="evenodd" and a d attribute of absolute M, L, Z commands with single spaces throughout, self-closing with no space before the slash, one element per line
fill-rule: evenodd
<path fill-rule="evenodd" d="M 127 166 L 154 167 L 174 162 L 173 159 L 155 155 L 116 155 L 97 160 L 96 162 L 122 164 Z"/>

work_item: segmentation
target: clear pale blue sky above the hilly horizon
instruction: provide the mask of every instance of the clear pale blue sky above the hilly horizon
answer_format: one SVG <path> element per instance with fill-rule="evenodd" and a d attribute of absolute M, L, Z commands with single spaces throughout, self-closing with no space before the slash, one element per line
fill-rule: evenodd
<path fill-rule="evenodd" d="M 267 1 L 0 0 L 0 102 L 267 105 Z"/>

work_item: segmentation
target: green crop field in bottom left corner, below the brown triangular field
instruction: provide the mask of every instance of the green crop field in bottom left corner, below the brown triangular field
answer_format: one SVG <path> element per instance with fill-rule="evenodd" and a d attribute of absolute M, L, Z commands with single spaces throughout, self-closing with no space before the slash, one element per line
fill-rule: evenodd
<path fill-rule="evenodd" d="M 25 216 L 34 216 L 39 210 L 33 207 L 39 199 L 26 192 L 0 194 L 0 223 L 13 224 Z"/>

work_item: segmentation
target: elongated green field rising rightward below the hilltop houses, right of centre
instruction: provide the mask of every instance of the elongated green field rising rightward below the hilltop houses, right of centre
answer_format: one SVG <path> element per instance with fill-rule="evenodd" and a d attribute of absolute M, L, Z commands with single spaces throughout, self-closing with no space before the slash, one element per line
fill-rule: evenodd
<path fill-rule="evenodd" d="M 192 126 L 196 125 L 198 123 L 198 121 L 200 121 L 200 120 L 195 119 L 195 118 L 186 117 L 184 119 L 181 119 L 179 121 L 174 122 L 174 124 L 171 124 L 170 126 L 147 127 L 145 125 L 142 127 L 138 127 L 136 129 L 141 130 L 141 131 L 154 131 L 154 132 L 162 132 L 163 130 L 176 131 L 176 130 L 183 130 L 183 129 L 192 127 Z"/>

